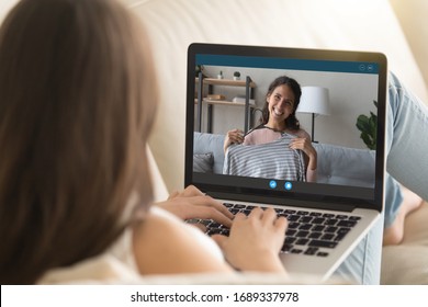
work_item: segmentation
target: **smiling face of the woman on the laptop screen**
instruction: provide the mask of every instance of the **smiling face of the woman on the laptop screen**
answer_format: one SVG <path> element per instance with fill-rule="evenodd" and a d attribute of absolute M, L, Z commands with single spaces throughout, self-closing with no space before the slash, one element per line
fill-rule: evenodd
<path fill-rule="evenodd" d="M 295 96 L 291 88 L 286 84 L 277 87 L 267 96 L 269 107 L 268 126 L 283 130 L 285 120 L 293 113 Z"/>

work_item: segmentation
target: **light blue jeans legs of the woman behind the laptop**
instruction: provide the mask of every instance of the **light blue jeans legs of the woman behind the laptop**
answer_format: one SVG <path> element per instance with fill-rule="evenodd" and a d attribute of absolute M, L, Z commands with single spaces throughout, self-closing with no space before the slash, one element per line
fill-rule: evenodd
<path fill-rule="evenodd" d="M 335 272 L 359 284 L 380 283 L 383 226 L 392 224 L 403 201 L 394 179 L 428 200 L 428 109 L 393 73 L 388 81 L 385 208 L 382 218 Z"/>

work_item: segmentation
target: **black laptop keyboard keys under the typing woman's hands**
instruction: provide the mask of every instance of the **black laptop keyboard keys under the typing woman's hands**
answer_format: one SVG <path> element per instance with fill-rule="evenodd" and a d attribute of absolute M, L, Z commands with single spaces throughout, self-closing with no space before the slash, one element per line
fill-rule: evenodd
<path fill-rule="evenodd" d="M 248 215 L 252 205 L 224 204 L 234 215 L 244 213 Z M 281 253 L 303 253 L 308 255 L 327 257 L 328 250 L 334 249 L 340 240 L 361 219 L 360 216 L 343 213 L 318 213 L 304 209 L 274 208 L 278 216 L 284 216 L 289 220 L 284 245 Z M 229 229 L 214 220 L 199 219 L 192 223 L 201 223 L 206 227 L 209 236 L 219 234 L 229 235 Z M 323 249 L 323 250 L 320 250 Z"/>

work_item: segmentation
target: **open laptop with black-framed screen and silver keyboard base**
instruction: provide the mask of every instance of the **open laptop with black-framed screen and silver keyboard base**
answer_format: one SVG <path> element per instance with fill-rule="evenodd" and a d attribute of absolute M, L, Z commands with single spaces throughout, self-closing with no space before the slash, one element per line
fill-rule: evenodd
<path fill-rule="evenodd" d="M 255 206 L 273 207 L 289 219 L 280 253 L 288 272 L 328 278 L 381 217 L 383 209 L 385 56 L 370 52 L 195 43 L 188 49 L 187 73 L 185 185 L 195 185 L 233 213 L 248 214 Z M 291 77 L 300 83 L 301 103 L 304 95 L 308 98 L 306 88 L 328 92 L 329 111 L 325 112 L 328 115 L 317 116 L 323 112 L 316 109 L 297 109 L 301 127 L 311 135 L 316 150 L 334 147 L 371 155 L 373 159 L 367 173 L 370 180 L 329 182 L 319 178 L 309 181 L 305 175 L 282 177 L 284 163 L 275 162 L 277 155 L 269 156 L 269 150 L 277 149 L 263 151 L 260 149 L 263 146 L 233 145 L 226 154 L 222 152 L 222 136 L 227 130 L 239 128 L 248 134 L 259 126 L 269 83 L 279 76 Z M 318 99 L 312 96 L 312 101 L 315 103 Z M 371 149 L 356 125 L 361 114 L 375 117 L 371 133 L 376 138 Z M 198 143 L 203 135 L 221 139 L 219 152 L 217 148 L 217 152 L 207 152 L 206 158 L 211 160 L 209 166 L 213 159 L 216 162 L 221 159 L 223 168 L 198 166 L 195 148 L 201 146 Z M 286 135 L 284 139 L 286 137 L 294 136 Z M 232 148 L 252 151 L 241 155 Z M 240 154 L 236 156 L 233 151 Z M 319 159 L 329 157 L 329 151 L 326 152 L 327 156 L 318 155 L 318 166 L 323 164 Z M 278 156 L 281 155 L 282 151 Z M 356 157 L 345 161 L 350 169 L 365 163 L 358 160 L 360 156 Z M 273 168 L 277 172 L 270 171 L 272 164 L 277 166 Z M 230 172 L 230 169 L 241 172 Z M 296 169 L 292 168 L 291 172 Z M 228 235 L 228 229 L 222 225 L 199 221 L 207 226 L 209 235 Z"/>

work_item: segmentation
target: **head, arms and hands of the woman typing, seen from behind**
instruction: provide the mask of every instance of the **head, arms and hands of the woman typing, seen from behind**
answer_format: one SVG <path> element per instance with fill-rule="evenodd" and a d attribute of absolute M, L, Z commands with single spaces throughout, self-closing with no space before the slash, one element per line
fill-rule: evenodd
<path fill-rule="evenodd" d="M 147 42 L 114 0 L 23 0 L 3 22 L 1 284 L 46 281 L 121 240 L 139 274 L 283 272 L 286 220 L 273 211 L 238 215 L 230 237 L 218 239 L 232 266 L 209 237 L 165 211 L 188 218 L 195 213 L 185 208 L 198 206 L 230 225 L 221 204 L 191 186 L 149 205 L 146 146 L 158 99 Z"/>

